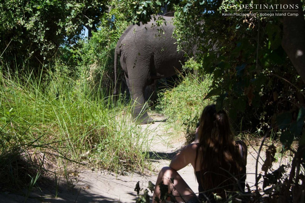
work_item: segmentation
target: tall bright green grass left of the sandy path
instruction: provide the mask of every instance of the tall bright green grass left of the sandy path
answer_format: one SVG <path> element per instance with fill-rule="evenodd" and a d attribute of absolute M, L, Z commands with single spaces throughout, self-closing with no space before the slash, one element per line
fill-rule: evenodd
<path fill-rule="evenodd" d="M 2 189 L 32 184 L 41 169 L 63 170 L 67 160 L 116 173 L 147 166 L 148 131 L 130 122 L 122 99 L 91 94 L 84 76 L 20 76 L 2 67 L 0 93 Z"/>

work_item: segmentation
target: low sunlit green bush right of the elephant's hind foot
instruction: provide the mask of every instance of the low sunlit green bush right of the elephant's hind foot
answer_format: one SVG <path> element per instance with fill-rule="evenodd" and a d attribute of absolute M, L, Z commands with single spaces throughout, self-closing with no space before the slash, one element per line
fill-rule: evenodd
<path fill-rule="evenodd" d="M 163 95 L 159 95 L 156 109 L 168 117 L 169 126 L 174 131 L 184 131 L 187 140 L 190 140 L 203 108 L 211 103 L 209 99 L 203 100 L 209 91 L 210 79 L 206 77 L 201 81 L 192 74 L 181 78 L 177 87 L 160 93 Z"/>

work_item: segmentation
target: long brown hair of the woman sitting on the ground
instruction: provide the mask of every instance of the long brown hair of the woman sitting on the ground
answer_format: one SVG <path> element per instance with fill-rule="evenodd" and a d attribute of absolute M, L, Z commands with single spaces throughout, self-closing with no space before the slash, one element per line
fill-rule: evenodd
<path fill-rule="evenodd" d="M 199 143 L 196 160 L 200 153 L 200 179 L 205 191 L 225 198 L 225 191 L 233 191 L 243 170 L 242 157 L 235 145 L 228 115 L 216 111 L 215 104 L 206 106 L 200 117 Z"/>

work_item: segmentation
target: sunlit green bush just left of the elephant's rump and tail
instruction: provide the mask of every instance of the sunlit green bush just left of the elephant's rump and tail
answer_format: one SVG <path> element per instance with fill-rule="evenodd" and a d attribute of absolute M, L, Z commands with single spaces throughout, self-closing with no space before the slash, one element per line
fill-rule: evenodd
<path fill-rule="evenodd" d="M 122 14 L 116 9 L 112 9 L 102 17 L 97 32 L 92 33 L 88 42 L 84 42 L 81 66 L 86 69 L 88 83 L 95 93 L 99 91 L 106 95 L 112 93 L 114 87 L 114 50 L 117 41 L 128 25 L 129 23 L 124 20 Z M 119 74 L 120 70 L 118 64 Z M 122 76 L 124 77 L 124 75 Z"/>

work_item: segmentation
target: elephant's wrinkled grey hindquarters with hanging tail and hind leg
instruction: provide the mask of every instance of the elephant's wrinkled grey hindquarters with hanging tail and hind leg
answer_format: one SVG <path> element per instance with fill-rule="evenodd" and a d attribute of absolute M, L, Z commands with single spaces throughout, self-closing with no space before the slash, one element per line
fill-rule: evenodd
<path fill-rule="evenodd" d="M 158 18 L 158 16 L 156 16 Z M 184 52 L 177 51 L 176 40 L 172 37 L 174 26 L 172 17 L 163 16 L 166 25 L 156 26 L 156 22 L 145 25 L 131 25 L 120 37 L 115 49 L 115 81 L 117 81 L 117 56 L 125 72 L 126 83 L 130 91 L 133 119 L 140 124 L 152 122 L 147 114 L 144 100 L 145 87 L 157 79 L 170 77 L 181 71 L 185 62 Z M 162 29 L 164 31 L 159 32 Z M 181 64 L 182 63 L 182 64 Z M 117 85 L 114 88 L 117 95 Z"/>

